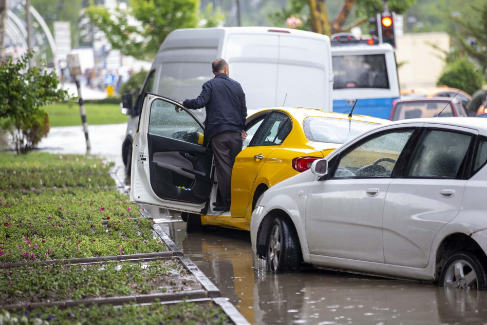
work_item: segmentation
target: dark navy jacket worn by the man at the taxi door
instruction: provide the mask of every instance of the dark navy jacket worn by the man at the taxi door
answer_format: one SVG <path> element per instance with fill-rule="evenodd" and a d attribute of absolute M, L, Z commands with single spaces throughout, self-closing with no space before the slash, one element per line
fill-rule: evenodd
<path fill-rule="evenodd" d="M 218 74 L 203 84 L 196 99 L 186 99 L 183 106 L 196 110 L 206 107 L 205 143 L 225 131 L 244 130 L 247 106 L 242 86 L 225 74 Z"/>

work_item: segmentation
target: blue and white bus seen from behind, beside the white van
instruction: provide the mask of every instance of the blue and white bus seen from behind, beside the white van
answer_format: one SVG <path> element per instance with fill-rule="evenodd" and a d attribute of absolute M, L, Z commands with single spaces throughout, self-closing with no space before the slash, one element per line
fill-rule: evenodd
<path fill-rule="evenodd" d="M 343 37 L 342 37 L 343 38 Z M 340 38 L 338 38 L 340 40 Z M 393 47 L 370 40 L 332 41 L 333 112 L 388 119 L 399 98 Z"/>

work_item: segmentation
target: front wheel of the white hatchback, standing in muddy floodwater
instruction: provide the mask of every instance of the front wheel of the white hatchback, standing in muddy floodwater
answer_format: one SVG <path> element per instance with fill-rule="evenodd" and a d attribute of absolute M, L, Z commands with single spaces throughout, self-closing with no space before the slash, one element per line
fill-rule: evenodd
<path fill-rule="evenodd" d="M 301 267 L 301 248 L 298 234 L 283 218 L 272 221 L 267 235 L 265 264 L 274 273 L 295 272 Z"/>

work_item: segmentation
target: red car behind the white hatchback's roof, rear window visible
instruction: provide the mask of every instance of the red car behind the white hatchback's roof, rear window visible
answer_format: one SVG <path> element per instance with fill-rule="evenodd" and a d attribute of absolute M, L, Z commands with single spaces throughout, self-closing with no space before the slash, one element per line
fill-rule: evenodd
<path fill-rule="evenodd" d="M 444 110 L 443 110 L 444 109 Z M 398 121 L 409 118 L 468 116 L 467 108 L 458 99 L 445 97 L 400 99 L 395 102 L 389 119 Z"/>

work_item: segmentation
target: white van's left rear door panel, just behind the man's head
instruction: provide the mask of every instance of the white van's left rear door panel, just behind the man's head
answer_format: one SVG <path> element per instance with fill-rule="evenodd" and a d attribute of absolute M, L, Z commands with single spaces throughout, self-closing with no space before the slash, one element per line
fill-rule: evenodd
<path fill-rule="evenodd" d="M 224 57 L 230 78 L 244 89 L 248 109 L 278 106 L 278 36 L 230 34 Z"/>

